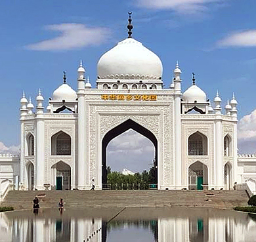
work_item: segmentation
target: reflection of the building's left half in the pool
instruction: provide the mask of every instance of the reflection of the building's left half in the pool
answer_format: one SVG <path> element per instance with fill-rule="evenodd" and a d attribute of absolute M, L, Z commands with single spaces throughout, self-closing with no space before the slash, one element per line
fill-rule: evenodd
<path fill-rule="evenodd" d="M 0 241 L 5 242 L 102 242 L 101 218 L 43 218 L 0 216 Z"/>

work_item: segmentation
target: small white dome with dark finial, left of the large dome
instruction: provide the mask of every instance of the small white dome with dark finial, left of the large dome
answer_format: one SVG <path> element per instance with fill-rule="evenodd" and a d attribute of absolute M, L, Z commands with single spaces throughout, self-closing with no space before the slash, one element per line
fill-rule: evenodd
<path fill-rule="evenodd" d="M 77 98 L 76 92 L 66 83 L 62 84 L 53 92 L 54 101 L 75 101 Z"/>

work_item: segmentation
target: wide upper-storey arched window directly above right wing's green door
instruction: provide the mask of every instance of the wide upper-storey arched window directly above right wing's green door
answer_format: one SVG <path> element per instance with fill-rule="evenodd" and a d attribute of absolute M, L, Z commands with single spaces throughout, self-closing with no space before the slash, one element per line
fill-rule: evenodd
<path fill-rule="evenodd" d="M 200 132 L 188 138 L 188 155 L 207 155 L 207 137 Z"/>

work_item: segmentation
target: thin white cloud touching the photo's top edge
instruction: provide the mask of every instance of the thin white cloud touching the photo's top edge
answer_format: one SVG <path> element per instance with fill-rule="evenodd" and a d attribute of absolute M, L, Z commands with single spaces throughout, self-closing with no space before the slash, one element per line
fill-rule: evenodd
<path fill-rule="evenodd" d="M 209 10 L 209 3 L 224 3 L 228 0 L 137 0 L 140 7 L 148 9 L 171 9 L 180 13 L 198 14 Z"/>

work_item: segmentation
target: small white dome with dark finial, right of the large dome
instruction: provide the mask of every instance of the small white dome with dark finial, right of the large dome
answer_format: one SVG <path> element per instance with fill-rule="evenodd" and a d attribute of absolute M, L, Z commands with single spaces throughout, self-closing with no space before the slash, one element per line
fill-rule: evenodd
<path fill-rule="evenodd" d="M 183 93 L 185 102 L 206 102 L 206 94 L 197 85 L 192 85 Z"/>

